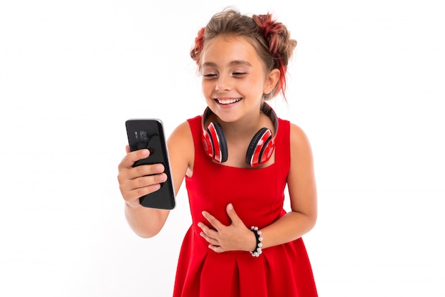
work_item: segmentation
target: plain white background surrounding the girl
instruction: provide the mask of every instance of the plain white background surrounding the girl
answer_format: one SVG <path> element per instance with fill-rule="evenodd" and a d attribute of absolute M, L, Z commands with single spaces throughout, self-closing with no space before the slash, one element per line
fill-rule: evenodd
<path fill-rule="evenodd" d="M 0 1 L 0 296 L 171 296 L 186 192 L 159 236 L 127 225 L 128 118 L 202 113 L 188 56 L 229 1 Z M 315 156 L 304 236 L 320 296 L 445 296 L 441 1 L 242 1 L 297 39 L 277 113 Z M 218 273 L 218 271 L 215 271 Z"/>

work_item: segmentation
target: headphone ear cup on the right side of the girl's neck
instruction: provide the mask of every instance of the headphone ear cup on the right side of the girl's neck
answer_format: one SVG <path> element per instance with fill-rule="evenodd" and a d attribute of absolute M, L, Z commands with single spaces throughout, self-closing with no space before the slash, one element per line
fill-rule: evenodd
<path fill-rule="evenodd" d="M 267 158 L 263 158 L 264 150 L 269 147 L 268 143 L 272 140 L 272 131 L 266 127 L 261 128 L 250 141 L 247 147 L 246 162 L 252 167 L 258 166 L 269 160 L 269 152 Z"/>

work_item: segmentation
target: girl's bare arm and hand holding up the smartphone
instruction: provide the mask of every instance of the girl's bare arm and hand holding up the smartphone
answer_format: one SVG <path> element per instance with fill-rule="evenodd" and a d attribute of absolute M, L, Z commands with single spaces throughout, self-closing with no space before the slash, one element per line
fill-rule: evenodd
<path fill-rule="evenodd" d="M 193 138 L 188 123 L 182 123 L 168 138 L 168 152 L 173 177 L 173 187 L 177 194 L 188 170 L 193 164 Z M 169 211 L 151 209 L 139 204 L 139 197 L 159 189 L 159 183 L 167 178 L 162 165 L 141 165 L 132 167 L 137 160 L 144 159 L 148 150 L 129 152 L 119 164 L 119 189 L 125 200 L 125 217 L 133 231 L 141 237 L 153 237 L 161 231 Z M 145 155 L 144 155 L 145 154 Z M 154 174 L 154 175 L 151 175 Z M 149 175 L 149 176 L 147 176 Z"/>

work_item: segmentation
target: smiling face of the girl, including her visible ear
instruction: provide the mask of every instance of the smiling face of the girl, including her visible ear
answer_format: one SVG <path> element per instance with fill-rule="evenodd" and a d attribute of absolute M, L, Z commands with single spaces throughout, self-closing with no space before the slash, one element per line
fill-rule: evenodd
<path fill-rule="evenodd" d="M 203 95 L 223 122 L 259 115 L 263 93 L 279 78 L 277 70 L 264 71 L 254 47 L 241 36 L 217 36 L 205 46 L 201 63 Z"/>

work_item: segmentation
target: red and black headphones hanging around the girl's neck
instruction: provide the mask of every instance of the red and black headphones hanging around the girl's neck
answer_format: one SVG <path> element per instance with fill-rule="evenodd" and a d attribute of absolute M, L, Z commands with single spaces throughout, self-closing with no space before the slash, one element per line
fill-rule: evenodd
<path fill-rule="evenodd" d="M 250 141 L 247 147 L 246 162 L 251 167 L 258 166 L 267 162 L 272 156 L 275 148 L 275 136 L 278 132 L 278 118 L 277 114 L 267 103 L 263 103 L 261 112 L 267 115 L 274 123 L 275 135 L 272 137 L 272 131 L 268 128 L 262 127 Z M 211 157 L 215 162 L 223 163 L 227 161 L 227 142 L 225 140 L 223 128 L 220 124 L 211 122 L 207 129 L 204 124 L 210 115 L 212 115 L 210 108 L 205 108 L 203 114 L 203 147 L 205 153 Z"/>

